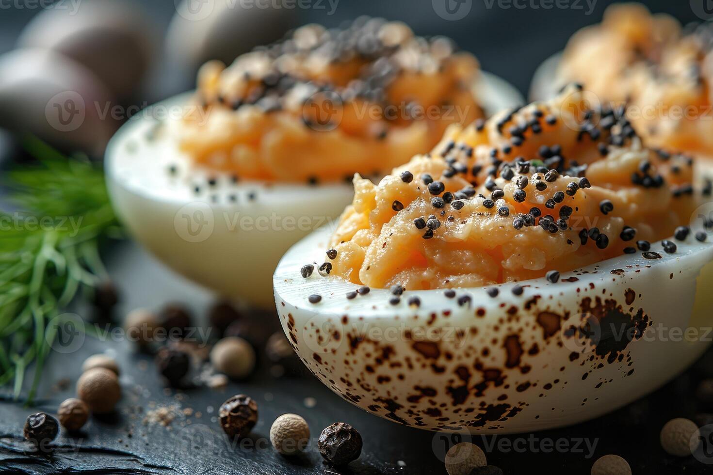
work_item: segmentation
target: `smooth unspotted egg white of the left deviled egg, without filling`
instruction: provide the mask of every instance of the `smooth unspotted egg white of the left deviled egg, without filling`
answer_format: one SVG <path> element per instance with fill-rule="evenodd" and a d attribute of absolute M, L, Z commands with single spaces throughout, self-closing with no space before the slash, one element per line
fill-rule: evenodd
<path fill-rule="evenodd" d="M 491 111 L 522 103 L 493 75 L 477 88 Z M 131 234 L 170 268 L 222 296 L 270 308 L 280 257 L 314 229 L 336 225 L 354 190 L 347 183 L 233 182 L 195 169 L 170 132 L 187 99 L 159 103 L 153 115 L 143 111 L 113 137 L 106 152 L 112 203 Z"/>

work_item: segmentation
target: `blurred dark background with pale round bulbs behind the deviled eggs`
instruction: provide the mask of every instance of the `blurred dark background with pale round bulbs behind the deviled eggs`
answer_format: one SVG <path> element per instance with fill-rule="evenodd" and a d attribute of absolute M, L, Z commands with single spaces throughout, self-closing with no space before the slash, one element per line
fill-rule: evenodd
<path fill-rule="evenodd" d="M 704 1 L 644 3 L 687 24 L 700 20 L 694 4 Z M 193 88 L 204 61 L 230 63 L 291 28 L 312 22 L 338 26 L 360 15 L 401 20 L 423 36 L 450 36 L 475 53 L 484 70 L 526 96 L 535 68 L 562 49 L 578 28 L 599 22 L 612 3 L 0 0 L 0 157 L 21 155 L 15 139 L 28 131 L 63 151 L 101 157 L 120 122 Z M 82 102 L 103 107 L 82 110 Z"/>

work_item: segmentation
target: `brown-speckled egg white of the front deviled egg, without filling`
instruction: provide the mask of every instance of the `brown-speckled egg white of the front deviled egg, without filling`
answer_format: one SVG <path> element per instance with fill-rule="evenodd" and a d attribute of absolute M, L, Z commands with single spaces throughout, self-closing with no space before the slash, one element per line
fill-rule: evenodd
<path fill-rule="evenodd" d="M 353 283 L 300 273 L 327 259 L 328 239 L 315 231 L 280 261 L 282 327 L 324 385 L 401 424 L 488 434 L 574 424 L 655 390 L 713 338 L 710 235 L 692 233 L 674 254 L 654 243 L 557 283 L 503 283 L 495 296 L 372 288 L 352 299 Z"/>

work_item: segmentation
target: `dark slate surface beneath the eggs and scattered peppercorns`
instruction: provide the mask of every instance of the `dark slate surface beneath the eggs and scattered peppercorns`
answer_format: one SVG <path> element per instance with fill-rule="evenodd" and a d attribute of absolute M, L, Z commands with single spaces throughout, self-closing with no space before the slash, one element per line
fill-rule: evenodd
<path fill-rule="evenodd" d="M 124 243 L 111 252 L 110 272 L 123 290 L 118 313 L 147 306 L 158 308 L 168 301 L 188 303 L 204 314 L 212 297 L 180 280 L 133 244 Z M 79 313 L 90 315 L 85 310 Z M 265 325 L 274 325 L 272 315 L 251 313 Z M 249 318 L 249 317 L 246 317 Z M 269 365 L 260 365 L 248 382 L 230 383 L 225 390 L 198 387 L 166 390 L 155 373 L 150 355 L 137 353 L 127 342 L 101 343 L 93 338 L 78 345 L 73 353 L 56 354 L 46 370 L 39 392 L 41 401 L 26 408 L 20 403 L 0 402 L 0 473 L 19 474 L 445 474 L 439 456 L 446 444 L 459 436 L 433 434 L 401 427 L 379 419 L 344 402 L 323 387 L 312 375 L 271 375 Z M 81 362 L 88 355 L 108 348 L 120 363 L 123 374 L 123 400 L 116 414 L 91 419 L 85 432 L 56 440 L 51 456 L 29 452 L 21 441 L 22 424 L 31 412 L 53 412 L 59 402 L 74 394 L 74 382 Z M 659 430 L 672 417 L 694 417 L 706 409 L 696 402 L 693 392 L 702 377 L 713 375 L 713 353 L 645 400 L 631 404 L 607 417 L 575 427 L 519 436 L 473 437 L 486 450 L 491 464 L 506 474 L 530 473 L 533 467 L 546 467 L 550 473 L 588 474 L 593 461 L 608 453 L 624 456 L 635 474 L 706 474 L 711 466 L 689 457 L 667 456 L 658 443 Z M 215 421 L 217 407 L 227 397 L 244 392 L 260 405 L 260 422 L 250 439 L 238 447 L 222 437 Z M 316 405 L 307 407 L 305 399 Z M 144 424 L 150 407 L 175 404 L 191 408 L 193 414 L 180 415 L 168 427 Z M 712 408 L 709 408 L 712 409 Z M 198 412 L 201 412 L 198 417 Z M 296 459 L 279 456 L 268 441 L 270 424 L 284 412 L 302 414 L 312 428 L 312 436 L 335 421 L 349 422 L 364 437 L 364 451 L 349 469 L 335 470 L 322 464 L 312 440 L 307 454 Z M 542 443 L 563 440 L 569 451 L 543 451 Z M 596 444 L 589 457 L 585 439 Z M 518 442 L 519 441 L 519 442 Z M 509 444 L 517 442 L 516 449 Z M 504 449 L 503 449 L 504 448 Z M 708 446 L 710 448 L 710 446 Z M 544 472 L 538 472 L 544 473 Z"/>

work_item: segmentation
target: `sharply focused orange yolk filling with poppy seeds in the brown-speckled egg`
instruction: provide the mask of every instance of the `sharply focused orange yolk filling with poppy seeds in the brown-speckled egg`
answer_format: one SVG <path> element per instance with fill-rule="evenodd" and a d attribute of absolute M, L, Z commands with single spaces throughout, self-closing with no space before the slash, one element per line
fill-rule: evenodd
<path fill-rule="evenodd" d="M 624 110 L 588 109 L 583 96 L 573 86 L 454 125 L 379 184 L 356 176 L 332 274 L 408 290 L 522 281 L 648 251 L 688 224 L 692 160 L 645 148 Z"/>

